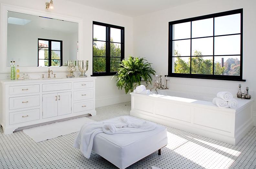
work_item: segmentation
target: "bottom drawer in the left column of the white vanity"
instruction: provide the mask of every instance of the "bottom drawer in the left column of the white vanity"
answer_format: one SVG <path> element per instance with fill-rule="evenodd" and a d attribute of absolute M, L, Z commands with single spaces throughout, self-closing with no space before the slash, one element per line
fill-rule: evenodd
<path fill-rule="evenodd" d="M 9 124 L 23 123 L 32 120 L 39 120 L 39 108 L 33 110 L 17 111 L 9 114 Z"/>

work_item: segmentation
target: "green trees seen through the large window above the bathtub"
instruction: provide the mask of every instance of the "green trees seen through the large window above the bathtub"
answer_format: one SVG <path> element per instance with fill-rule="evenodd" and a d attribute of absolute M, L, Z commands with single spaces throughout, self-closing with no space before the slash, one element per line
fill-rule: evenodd
<path fill-rule="evenodd" d="M 182 60 L 181 55 L 178 51 L 174 51 L 174 55 L 176 57 L 176 61 L 174 62 L 174 72 L 175 73 L 190 73 L 190 61 L 191 61 L 191 73 L 192 74 L 212 74 L 213 68 L 213 60 L 212 59 L 204 59 L 202 56 L 202 52 L 195 51 L 192 59 L 188 59 L 188 61 Z M 221 67 L 219 62 L 214 63 L 214 74 L 221 75 L 224 72 L 225 67 Z"/>

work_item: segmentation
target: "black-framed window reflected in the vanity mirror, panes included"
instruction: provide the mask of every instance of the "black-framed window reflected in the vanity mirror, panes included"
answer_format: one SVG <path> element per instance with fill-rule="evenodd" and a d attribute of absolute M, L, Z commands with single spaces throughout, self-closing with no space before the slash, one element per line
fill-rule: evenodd
<path fill-rule="evenodd" d="M 37 66 L 62 66 L 62 41 L 38 38 Z"/>

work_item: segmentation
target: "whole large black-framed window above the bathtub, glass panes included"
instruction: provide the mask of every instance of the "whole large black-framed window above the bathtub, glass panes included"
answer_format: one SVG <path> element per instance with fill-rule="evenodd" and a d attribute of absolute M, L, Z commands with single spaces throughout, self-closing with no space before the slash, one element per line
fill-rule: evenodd
<path fill-rule="evenodd" d="M 168 76 L 242 80 L 243 9 L 169 22 Z"/>

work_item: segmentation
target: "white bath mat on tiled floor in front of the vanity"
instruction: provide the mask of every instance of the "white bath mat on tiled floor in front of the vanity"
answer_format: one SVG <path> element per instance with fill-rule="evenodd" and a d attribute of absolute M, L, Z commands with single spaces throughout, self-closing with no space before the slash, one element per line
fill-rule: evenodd
<path fill-rule="evenodd" d="M 85 123 L 94 122 L 87 117 L 80 117 L 66 121 L 60 121 L 43 126 L 24 129 L 23 132 L 32 138 L 36 143 L 78 132 Z"/>

